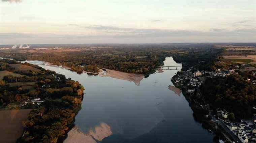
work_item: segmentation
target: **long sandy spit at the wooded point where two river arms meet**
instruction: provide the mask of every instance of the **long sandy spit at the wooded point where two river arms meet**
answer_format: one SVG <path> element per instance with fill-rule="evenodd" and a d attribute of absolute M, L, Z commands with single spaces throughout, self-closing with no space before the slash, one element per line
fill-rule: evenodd
<path fill-rule="evenodd" d="M 112 78 L 118 78 L 122 80 L 128 80 L 134 82 L 136 85 L 140 84 L 140 81 L 144 78 L 143 74 L 125 73 L 115 70 L 105 69 L 106 74 L 100 74 L 100 76 L 109 76 Z"/>

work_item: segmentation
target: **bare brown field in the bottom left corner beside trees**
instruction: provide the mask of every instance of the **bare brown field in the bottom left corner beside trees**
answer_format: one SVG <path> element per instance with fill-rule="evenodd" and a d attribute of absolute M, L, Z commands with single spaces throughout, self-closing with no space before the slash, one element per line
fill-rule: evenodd
<path fill-rule="evenodd" d="M 1 143 L 16 143 L 24 131 L 22 121 L 28 118 L 30 111 L 31 109 L 0 111 Z"/>

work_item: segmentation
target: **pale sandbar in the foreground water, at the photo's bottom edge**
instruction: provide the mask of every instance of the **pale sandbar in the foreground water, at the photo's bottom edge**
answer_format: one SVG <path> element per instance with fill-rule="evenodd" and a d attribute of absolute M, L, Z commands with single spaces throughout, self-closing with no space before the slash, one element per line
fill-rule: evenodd
<path fill-rule="evenodd" d="M 112 135 L 111 128 L 105 123 L 101 123 L 99 126 L 94 127 L 94 129 L 90 129 L 87 134 L 81 132 L 75 126 L 68 132 L 67 139 L 64 140 L 64 143 L 97 143 L 97 141 L 101 141 L 110 135 Z"/>

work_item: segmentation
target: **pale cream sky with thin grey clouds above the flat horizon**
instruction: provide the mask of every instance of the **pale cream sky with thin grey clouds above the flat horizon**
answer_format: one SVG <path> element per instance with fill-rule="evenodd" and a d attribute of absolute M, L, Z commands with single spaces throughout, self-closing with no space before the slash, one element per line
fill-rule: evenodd
<path fill-rule="evenodd" d="M 256 0 L 0 0 L 0 45 L 256 42 Z"/>

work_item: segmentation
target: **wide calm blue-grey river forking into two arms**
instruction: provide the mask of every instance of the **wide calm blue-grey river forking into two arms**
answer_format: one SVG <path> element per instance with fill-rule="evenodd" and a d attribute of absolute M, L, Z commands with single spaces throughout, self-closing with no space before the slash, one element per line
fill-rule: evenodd
<path fill-rule="evenodd" d="M 28 61 L 40 63 L 39 61 Z M 181 66 L 168 57 L 166 66 Z M 77 74 L 57 66 L 39 65 L 79 81 L 85 87 L 82 109 L 65 142 L 212 143 L 213 134 L 193 118 L 188 101 L 168 89 L 175 70 L 132 81 Z M 107 138 L 105 138 L 107 137 Z"/>

